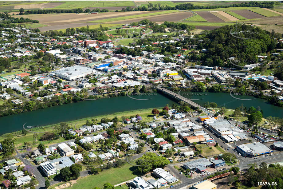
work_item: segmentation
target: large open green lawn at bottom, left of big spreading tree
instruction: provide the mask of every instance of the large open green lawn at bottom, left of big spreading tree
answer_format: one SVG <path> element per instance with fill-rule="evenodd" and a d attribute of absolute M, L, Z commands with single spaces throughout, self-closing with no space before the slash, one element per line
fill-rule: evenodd
<path fill-rule="evenodd" d="M 68 189 L 93 189 L 94 187 L 103 188 L 105 183 L 112 185 L 120 184 L 124 181 L 131 180 L 137 175 L 134 173 L 135 166 L 126 163 L 121 168 L 110 168 L 103 170 L 97 175 L 89 175 L 79 178 L 77 183 Z"/>

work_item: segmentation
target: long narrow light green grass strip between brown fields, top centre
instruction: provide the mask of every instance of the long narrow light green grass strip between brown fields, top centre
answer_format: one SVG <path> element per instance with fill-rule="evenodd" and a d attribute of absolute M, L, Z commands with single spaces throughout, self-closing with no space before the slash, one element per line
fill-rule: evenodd
<path fill-rule="evenodd" d="M 131 15 L 131 16 L 125 16 L 125 17 L 117 17 L 117 18 L 101 19 L 101 20 L 89 21 L 89 22 L 94 22 L 94 23 L 112 22 L 112 21 L 120 21 L 120 20 L 126 20 L 126 19 L 131 19 L 131 18 L 141 18 L 141 17 L 153 16 L 153 15 L 175 13 L 175 12 L 179 12 L 179 10 L 165 10 L 165 11 L 159 11 L 159 12 L 155 12 L 155 13 L 137 14 L 137 15 Z"/>

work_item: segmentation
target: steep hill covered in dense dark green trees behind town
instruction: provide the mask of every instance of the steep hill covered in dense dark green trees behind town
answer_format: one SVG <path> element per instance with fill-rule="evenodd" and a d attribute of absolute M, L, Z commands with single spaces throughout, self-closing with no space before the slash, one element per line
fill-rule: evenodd
<path fill-rule="evenodd" d="M 230 32 L 240 38 L 234 37 Z M 202 60 L 208 66 L 223 66 L 224 61 L 227 61 L 229 57 L 236 57 L 239 60 L 257 60 L 257 55 L 260 53 L 269 52 L 277 47 L 277 40 L 271 39 L 269 31 L 250 25 L 223 26 L 205 31 L 204 34 L 196 35 L 196 37 L 201 38 L 194 39 L 191 43 L 198 45 L 199 50 L 207 49 L 207 51 L 201 53 L 200 57 L 197 54 L 192 55 L 191 59 Z M 200 39 L 203 41 L 200 42 Z M 246 64 L 243 63 L 243 65 Z"/>

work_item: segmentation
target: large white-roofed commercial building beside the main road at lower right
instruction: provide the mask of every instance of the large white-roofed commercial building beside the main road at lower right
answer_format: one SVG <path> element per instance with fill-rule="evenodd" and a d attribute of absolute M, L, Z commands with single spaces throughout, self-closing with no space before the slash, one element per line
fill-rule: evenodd
<path fill-rule="evenodd" d="M 273 152 L 273 150 L 260 142 L 242 144 L 238 145 L 236 148 L 239 153 L 247 157 L 255 157 Z"/>

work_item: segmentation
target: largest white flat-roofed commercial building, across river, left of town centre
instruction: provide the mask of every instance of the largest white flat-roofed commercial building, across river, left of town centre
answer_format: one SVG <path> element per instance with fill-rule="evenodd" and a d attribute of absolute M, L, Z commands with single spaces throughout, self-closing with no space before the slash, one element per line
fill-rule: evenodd
<path fill-rule="evenodd" d="M 74 65 L 71 67 L 66 67 L 59 69 L 57 71 L 53 71 L 51 75 L 55 75 L 55 76 L 57 75 L 62 79 L 70 81 L 77 78 L 85 77 L 86 75 L 92 73 L 96 73 L 96 70 L 81 65 Z"/>

